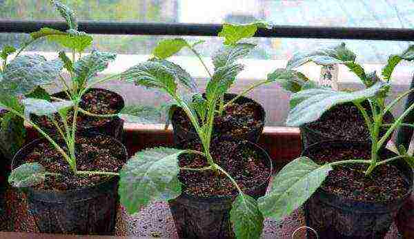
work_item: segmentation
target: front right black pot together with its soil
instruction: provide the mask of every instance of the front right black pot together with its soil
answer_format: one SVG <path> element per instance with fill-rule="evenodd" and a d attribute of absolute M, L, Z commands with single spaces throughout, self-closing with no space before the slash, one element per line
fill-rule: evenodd
<path fill-rule="evenodd" d="M 304 156 L 318 164 L 370 159 L 368 143 L 326 141 L 312 145 Z M 384 151 L 382 158 L 391 152 Z M 403 163 L 400 163 L 400 165 Z M 397 164 L 378 166 L 366 177 L 367 165 L 339 165 L 306 202 L 306 224 L 319 238 L 384 238 L 413 186 L 413 173 Z M 313 238 L 308 233 L 308 238 Z"/>

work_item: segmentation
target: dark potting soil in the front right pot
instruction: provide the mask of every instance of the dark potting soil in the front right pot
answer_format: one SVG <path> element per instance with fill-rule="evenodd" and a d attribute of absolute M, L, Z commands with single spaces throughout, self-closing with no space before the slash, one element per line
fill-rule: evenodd
<path fill-rule="evenodd" d="M 322 165 L 355 158 L 369 160 L 371 152 L 369 149 L 347 149 L 325 143 L 306 156 Z M 374 169 L 371 176 L 365 176 L 364 171 L 367 168 L 367 164 L 334 166 L 322 188 L 333 194 L 364 202 L 389 202 L 407 194 L 409 188 L 406 178 L 394 165 L 380 165 Z"/>

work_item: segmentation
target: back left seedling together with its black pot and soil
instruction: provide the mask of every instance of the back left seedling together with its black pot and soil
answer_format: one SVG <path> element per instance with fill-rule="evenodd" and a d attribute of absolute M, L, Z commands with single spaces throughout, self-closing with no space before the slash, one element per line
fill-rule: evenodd
<path fill-rule="evenodd" d="M 101 64 L 100 67 L 104 67 L 105 63 L 115 60 L 116 54 L 99 52 L 97 50 L 92 50 L 90 54 L 85 54 L 85 50 L 92 45 L 92 36 L 85 32 L 78 31 L 79 26 L 75 13 L 72 10 L 59 1 L 51 2 L 66 20 L 68 30 L 66 32 L 61 32 L 52 28 L 41 28 L 38 32 L 32 32 L 30 34 L 30 41 L 23 45 L 23 48 L 17 53 L 17 57 L 19 57 L 19 54 L 29 45 L 40 39 L 46 39 L 50 43 L 57 43 L 57 45 L 61 46 L 63 50 L 59 52 L 59 58 L 64 62 L 67 74 L 61 72 L 56 78 L 58 81 L 53 82 L 55 85 L 58 85 L 62 91 L 52 94 L 51 98 L 52 101 L 59 101 L 59 99 L 68 100 L 70 99 L 70 94 L 77 94 L 83 90 L 88 79 L 94 77 L 93 74 L 86 75 L 88 73 L 83 72 L 83 69 L 79 67 L 75 69 L 75 65 L 73 65 L 75 59 L 77 59 L 78 64 L 90 64 L 92 61 L 102 61 L 103 64 Z M 66 37 L 67 34 L 70 34 L 70 39 Z M 65 50 L 68 50 L 69 54 L 66 54 Z M 77 70 L 77 72 L 74 72 L 75 70 Z M 101 72 L 101 70 L 98 72 Z M 78 75 L 75 76 L 75 73 Z M 68 75 L 69 77 L 65 77 L 65 75 Z M 81 103 L 79 103 L 80 109 L 79 114 L 77 114 L 79 131 L 99 132 L 121 139 L 124 121 L 122 121 L 117 114 L 124 107 L 124 99 L 115 92 L 96 87 L 97 85 L 112 79 L 116 79 L 116 77 L 110 76 L 88 85 L 89 88 L 82 95 Z M 43 92 L 46 93 L 45 90 L 43 90 Z M 72 114 L 73 112 L 70 112 L 69 119 L 73 116 Z M 46 116 L 34 116 L 32 120 L 41 125 L 42 129 L 57 134 L 57 132 L 53 132 L 54 125 Z"/>

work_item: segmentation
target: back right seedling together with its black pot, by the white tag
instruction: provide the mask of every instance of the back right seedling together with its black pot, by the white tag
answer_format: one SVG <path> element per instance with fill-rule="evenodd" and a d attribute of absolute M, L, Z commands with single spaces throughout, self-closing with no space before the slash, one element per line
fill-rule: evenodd
<path fill-rule="evenodd" d="M 279 81 L 280 86 L 290 93 L 296 93 L 300 90 L 307 90 L 313 87 L 322 87 L 315 81 L 311 81 L 307 76 L 295 69 L 306 63 L 313 62 L 317 65 L 346 65 L 351 72 L 354 72 L 359 80 L 366 86 L 370 87 L 373 82 L 377 81 L 377 73 L 366 73 L 360 65 L 355 62 L 356 55 L 346 48 L 345 43 L 339 45 L 311 50 L 308 52 L 298 52 L 286 65 L 286 68 L 278 69 L 275 72 L 285 72 L 290 75 L 288 79 Z M 325 86 L 326 87 L 326 86 Z M 368 108 L 368 101 L 362 103 Z M 371 111 L 368 109 L 368 114 Z M 393 121 L 391 112 L 387 112 L 384 121 L 390 123 Z M 300 127 L 302 148 L 313 145 L 319 141 L 333 139 L 342 139 L 346 141 L 369 141 L 370 136 L 364 123 L 364 117 L 353 103 L 342 103 L 335 105 L 317 120 L 306 123 Z M 381 130 L 385 134 L 386 129 Z"/>

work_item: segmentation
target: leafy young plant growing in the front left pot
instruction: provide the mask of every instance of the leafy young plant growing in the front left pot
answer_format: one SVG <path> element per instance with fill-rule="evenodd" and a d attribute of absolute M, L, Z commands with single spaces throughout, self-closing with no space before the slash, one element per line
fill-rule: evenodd
<path fill-rule="evenodd" d="M 115 60 L 116 55 L 107 52 L 92 51 L 90 54 L 81 56 L 81 52 L 92 43 L 92 37 L 85 32 L 77 30 L 77 20 L 72 10 L 61 4 L 59 1 L 51 1 L 62 17 L 68 23 L 68 30 L 61 32 L 50 28 L 42 28 L 39 32 L 33 32 L 32 40 L 23 45 L 17 51 L 16 56 L 10 63 L 6 63 L 7 56 L 14 52 L 12 48 L 4 48 L 2 54 L 3 66 L 0 72 L 0 106 L 8 110 L 13 116 L 21 118 L 50 142 L 50 144 L 68 162 L 73 174 L 102 174 L 118 175 L 115 172 L 84 172 L 77 169 L 75 143 L 77 136 L 77 115 L 79 112 L 92 116 L 119 116 L 128 122 L 133 123 L 154 123 L 159 122 L 159 112 L 153 107 L 142 105 L 129 105 L 124 107 L 119 114 L 98 115 L 81 110 L 79 103 L 81 96 L 90 87 L 124 74 L 115 74 L 103 79 L 97 79 L 96 74 L 105 70 L 110 61 Z M 28 45 L 46 38 L 48 41 L 59 43 L 59 45 L 72 50 L 72 59 L 66 56 L 65 52 L 59 52 L 59 59 L 46 61 L 43 56 L 19 55 Z M 76 55 L 79 54 L 79 59 Z M 5 56 L 5 57 L 3 57 Z M 69 87 L 66 80 L 61 76 L 61 70 L 66 68 L 70 74 Z M 42 85 L 53 83 L 56 79 L 61 81 L 62 87 L 68 99 L 52 98 Z M 54 100 L 54 101 L 51 101 Z M 55 137 L 43 131 L 39 125 L 34 123 L 30 115 L 46 116 L 55 127 L 61 141 L 66 145 L 68 151 L 57 143 Z M 72 114 L 72 121 L 69 121 L 69 114 Z M 41 183 L 45 176 L 52 174 L 46 172 L 39 163 L 26 163 L 13 169 L 9 182 L 15 187 L 28 187 Z"/>

